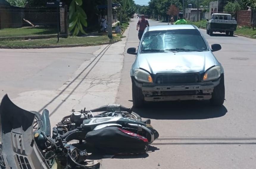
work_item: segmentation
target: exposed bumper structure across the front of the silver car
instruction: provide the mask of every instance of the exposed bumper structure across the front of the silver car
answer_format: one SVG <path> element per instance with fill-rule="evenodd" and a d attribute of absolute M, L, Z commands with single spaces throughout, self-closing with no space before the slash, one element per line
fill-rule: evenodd
<path fill-rule="evenodd" d="M 187 84 L 149 84 L 135 81 L 145 101 L 210 100 L 220 78 L 210 82 Z"/>

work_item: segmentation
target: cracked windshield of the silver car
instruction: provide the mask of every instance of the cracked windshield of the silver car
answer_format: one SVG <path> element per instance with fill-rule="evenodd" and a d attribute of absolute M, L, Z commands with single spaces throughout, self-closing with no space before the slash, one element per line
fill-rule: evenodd
<path fill-rule="evenodd" d="M 150 31 L 141 43 L 141 52 L 207 51 L 207 45 L 196 29 Z"/>

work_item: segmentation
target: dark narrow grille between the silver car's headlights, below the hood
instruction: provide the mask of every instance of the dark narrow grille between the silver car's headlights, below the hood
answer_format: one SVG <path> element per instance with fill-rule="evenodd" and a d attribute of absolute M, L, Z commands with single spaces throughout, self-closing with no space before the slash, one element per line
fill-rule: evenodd
<path fill-rule="evenodd" d="M 156 78 L 157 84 L 170 83 L 195 83 L 199 81 L 199 77 L 195 73 L 189 74 L 159 74 Z"/>

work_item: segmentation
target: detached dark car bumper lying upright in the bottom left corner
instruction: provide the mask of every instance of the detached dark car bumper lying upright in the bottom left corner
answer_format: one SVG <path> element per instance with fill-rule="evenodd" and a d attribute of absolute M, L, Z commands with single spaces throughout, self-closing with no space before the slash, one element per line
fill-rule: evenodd
<path fill-rule="evenodd" d="M 34 141 L 34 117 L 4 96 L 0 104 L 0 168 L 49 169 Z"/>

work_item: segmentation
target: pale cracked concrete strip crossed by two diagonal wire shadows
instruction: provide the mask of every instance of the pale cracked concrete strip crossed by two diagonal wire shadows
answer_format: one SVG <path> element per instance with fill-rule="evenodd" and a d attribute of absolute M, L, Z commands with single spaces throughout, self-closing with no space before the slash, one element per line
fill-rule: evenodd
<path fill-rule="evenodd" d="M 126 31 L 124 34 L 127 34 Z M 123 67 L 126 38 L 103 45 L 56 90 L 32 90 L 20 93 L 14 103 L 26 110 L 49 110 L 51 127 L 71 109 L 80 110 L 114 103 Z"/>

